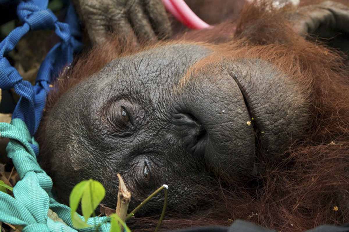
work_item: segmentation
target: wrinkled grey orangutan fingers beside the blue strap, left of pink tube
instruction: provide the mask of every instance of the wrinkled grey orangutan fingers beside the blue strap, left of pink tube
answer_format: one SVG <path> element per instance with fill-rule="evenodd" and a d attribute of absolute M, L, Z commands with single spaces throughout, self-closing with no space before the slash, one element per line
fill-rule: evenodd
<path fill-rule="evenodd" d="M 73 0 L 73 3 L 94 44 L 103 43 L 110 32 L 138 41 L 162 39 L 171 34 L 161 0 Z"/>

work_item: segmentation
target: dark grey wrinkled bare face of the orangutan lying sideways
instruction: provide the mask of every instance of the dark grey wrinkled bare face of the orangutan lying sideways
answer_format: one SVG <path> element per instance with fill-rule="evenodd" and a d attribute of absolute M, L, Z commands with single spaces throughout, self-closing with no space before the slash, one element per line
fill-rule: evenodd
<path fill-rule="evenodd" d="M 282 152 L 299 137 L 307 104 L 295 83 L 261 60 L 222 57 L 219 69 L 188 74 L 211 53 L 193 44 L 152 48 L 68 90 L 45 135 L 58 198 L 67 203 L 76 183 L 93 178 L 114 208 L 120 173 L 130 209 L 167 184 L 168 210 L 184 213 L 205 203 L 194 196 L 217 188 L 217 177 L 251 176 L 260 147 Z M 141 213 L 158 213 L 162 204 L 160 194 Z"/>

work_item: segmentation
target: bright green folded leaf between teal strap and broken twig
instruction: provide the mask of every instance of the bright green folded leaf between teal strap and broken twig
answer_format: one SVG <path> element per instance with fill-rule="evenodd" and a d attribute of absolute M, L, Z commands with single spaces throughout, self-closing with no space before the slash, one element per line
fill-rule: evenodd
<path fill-rule="evenodd" d="M 98 181 L 89 179 L 88 181 L 81 181 L 74 186 L 69 196 L 69 206 L 70 217 L 72 218 L 72 223 L 75 228 L 81 229 L 90 226 L 86 222 L 91 214 L 94 213 L 99 203 L 101 203 L 104 196 L 105 189 Z M 76 213 L 80 201 L 82 215 L 85 221 Z"/>

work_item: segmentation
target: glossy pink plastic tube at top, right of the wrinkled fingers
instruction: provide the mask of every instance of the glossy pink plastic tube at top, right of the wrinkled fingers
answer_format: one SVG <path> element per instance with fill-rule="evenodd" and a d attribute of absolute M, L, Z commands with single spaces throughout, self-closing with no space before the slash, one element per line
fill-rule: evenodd
<path fill-rule="evenodd" d="M 191 29 L 205 29 L 211 27 L 195 15 L 184 0 L 162 0 L 162 2 L 165 8 L 187 27 Z"/>

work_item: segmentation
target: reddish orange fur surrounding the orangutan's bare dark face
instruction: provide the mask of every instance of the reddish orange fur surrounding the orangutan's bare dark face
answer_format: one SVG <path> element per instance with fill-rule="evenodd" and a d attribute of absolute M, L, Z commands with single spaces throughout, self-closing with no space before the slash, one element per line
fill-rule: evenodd
<path fill-rule="evenodd" d="M 236 24 L 236 34 L 225 34 L 223 39 L 219 35 L 212 36 L 218 34 L 215 29 L 185 34 L 187 41 L 220 43 L 204 43 L 214 53 L 198 62 L 190 72 L 202 72 L 213 63 L 219 63 L 222 56 L 231 60 L 260 58 L 273 63 L 310 95 L 313 120 L 309 122 L 309 131 L 305 131 L 306 139 L 296 141 L 273 161 L 261 151 L 259 161 L 265 172 L 253 180 L 258 185 L 218 180 L 217 192 L 203 196 L 212 202 L 209 209 L 192 215 L 168 214 L 162 224 L 164 230 L 229 225 L 237 218 L 282 232 L 349 222 L 349 72 L 344 55 L 299 37 L 283 19 L 282 10 L 268 12 L 268 7 L 246 6 Z M 179 40 L 184 42 L 184 39 Z M 165 42 L 160 45 L 162 43 Z M 46 115 L 59 96 L 76 82 L 116 57 L 149 46 L 153 47 L 128 46 L 118 51 L 117 44 L 111 42 L 91 51 L 55 83 Z M 136 218 L 129 225 L 134 231 L 152 231 L 157 219 Z"/>

